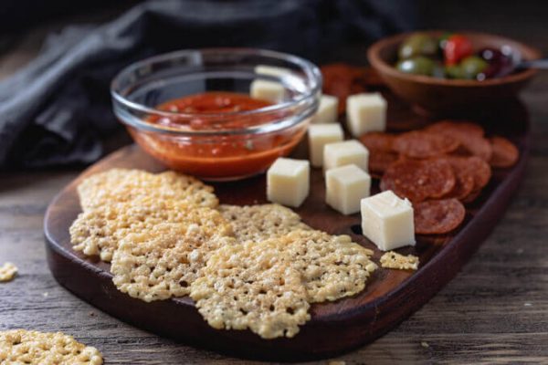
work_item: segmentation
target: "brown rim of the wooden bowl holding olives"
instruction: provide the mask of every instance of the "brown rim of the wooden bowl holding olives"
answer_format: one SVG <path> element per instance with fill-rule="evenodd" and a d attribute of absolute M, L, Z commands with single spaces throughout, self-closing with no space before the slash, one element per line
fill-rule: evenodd
<path fill-rule="evenodd" d="M 437 86 L 446 86 L 446 87 L 455 87 L 455 88 L 485 88 L 495 85 L 510 84 L 513 82 L 523 81 L 527 78 L 531 78 L 535 75 L 538 70 L 534 68 L 527 68 L 520 72 L 512 73 L 510 75 L 504 76 L 502 78 L 487 78 L 482 81 L 470 80 L 470 79 L 449 79 L 449 78 L 432 78 L 425 75 L 412 75 L 406 74 L 404 72 L 398 71 L 393 65 L 385 62 L 385 60 L 380 57 L 381 50 L 385 47 L 394 46 L 397 43 L 402 42 L 406 37 L 411 36 L 414 33 L 425 33 L 427 35 L 442 35 L 447 33 L 448 30 L 439 30 L 439 29 L 417 29 L 415 31 L 400 33 L 395 36 L 387 36 L 376 41 L 372 46 L 367 49 L 367 59 L 371 66 L 379 71 L 379 73 L 386 74 L 393 78 L 405 79 L 406 81 L 416 82 L 423 85 L 437 85 Z M 531 54 L 532 57 L 527 57 L 527 60 L 539 59 L 542 57 L 540 50 L 534 47 L 527 46 L 520 41 L 511 39 L 507 36 L 499 36 L 491 33 L 483 33 L 476 31 L 468 30 L 455 30 L 451 31 L 454 34 L 461 34 L 469 37 L 490 37 L 492 39 L 498 39 L 501 42 L 508 42 L 511 44 L 511 47 L 519 47 L 522 50 L 525 50 L 526 53 Z"/>

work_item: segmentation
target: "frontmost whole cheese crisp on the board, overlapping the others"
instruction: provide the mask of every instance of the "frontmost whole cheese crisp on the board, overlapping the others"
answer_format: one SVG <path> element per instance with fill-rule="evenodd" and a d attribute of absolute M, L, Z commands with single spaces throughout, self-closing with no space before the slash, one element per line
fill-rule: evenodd
<path fill-rule="evenodd" d="M 300 273 L 271 242 L 221 247 L 190 296 L 213 328 L 249 328 L 264 339 L 293 337 L 310 319 Z"/>

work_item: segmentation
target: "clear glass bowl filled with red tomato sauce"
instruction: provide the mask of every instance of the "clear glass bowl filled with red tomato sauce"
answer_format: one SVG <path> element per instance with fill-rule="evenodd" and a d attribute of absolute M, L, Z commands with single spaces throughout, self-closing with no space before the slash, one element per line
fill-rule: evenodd
<path fill-rule="evenodd" d="M 257 72 L 258 66 L 284 73 Z M 283 88 L 277 102 L 252 99 L 255 80 Z M 184 50 L 136 62 L 111 83 L 115 115 L 167 167 L 205 180 L 266 171 L 306 133 L 321 95 L 311 62 L 247 48 Z"/>

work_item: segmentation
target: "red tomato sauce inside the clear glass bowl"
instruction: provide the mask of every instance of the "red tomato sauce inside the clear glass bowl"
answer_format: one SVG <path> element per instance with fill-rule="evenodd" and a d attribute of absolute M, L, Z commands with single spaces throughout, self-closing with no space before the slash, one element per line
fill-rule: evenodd
<path fill-rule="evenodd" d="M 205 92 L 173 99 L 156 107 L 192 117 L 150 117 L 152 123 L 186 130 L 240 130 L 279 120 L 287 111 L 238 115 L 238 111 L 258 110 L 272 105 L 232 92 Z M 288 130 L 261 134 L 165 137 L 142 134 L 130 129 L 133 138 L 168 167 L 202 178 L 224 179 L 264 172 L 278 157 L 295 147 L 306 131 L 306 124 Z"/>

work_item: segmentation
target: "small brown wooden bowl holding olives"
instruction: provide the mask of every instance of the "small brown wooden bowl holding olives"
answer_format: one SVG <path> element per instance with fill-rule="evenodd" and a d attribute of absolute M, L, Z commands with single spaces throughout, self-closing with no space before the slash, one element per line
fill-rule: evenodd
<path fill-rule="evenodd" d="M 425 31 L 429 36 L 441 36 L 442 31 Z M 526 60 L 538 59 L 541 53 L 532 48 L 502 36 L 476 32 L 458 32 L 468 36 L 475 50 L 483 47 L 500 48 L 508 45 L 522 54 Z M 525 69 L 503 78 L 484 81 L 465 79 L 431 78 L 398 71 L 394 65 L 400 44 L 411 33 L 390 36 L 374 43 L 367 51 L 371 66 L 385 80 L 386 84 L 400 98 L 440 117 L 470 116 L 479 110 L 492 108 L 498 102 L 515 98 L 520 89 L 536 73 Z"/>

